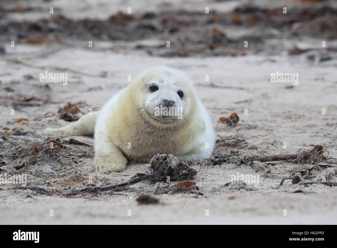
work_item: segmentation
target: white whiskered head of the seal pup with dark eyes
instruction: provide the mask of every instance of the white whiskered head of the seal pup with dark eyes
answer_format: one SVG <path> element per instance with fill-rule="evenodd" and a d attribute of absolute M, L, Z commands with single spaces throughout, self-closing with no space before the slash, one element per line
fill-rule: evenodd
<path fill-rule="evenodd" d="M 182 72 L 153 67 L 140 75 L 135 84 L 135 104 L 145 120 L 160 127 L 180 126 L 188 121 L 196 93 Z"/>

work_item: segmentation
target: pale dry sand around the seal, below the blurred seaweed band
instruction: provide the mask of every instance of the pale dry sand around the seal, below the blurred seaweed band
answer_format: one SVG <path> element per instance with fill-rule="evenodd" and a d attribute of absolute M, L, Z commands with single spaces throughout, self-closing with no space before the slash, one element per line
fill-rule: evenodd
<path fill-rule="evenodd" d="M 79 54 L 86 60 L 79 59 L 77 56 Z M 332 101 L 336 98 L 337 83 L 333 65 L 299 64 L 297 61 L 292 62 L 284 58 L 259 56 L 167 59 L 106 54 L 82 49 L 63 49 L 44 59 L 11 56 L 27 61 L 29 66 L 1 62 L 1 68 L 8 73 L 6 79 L 2 79 L 2 86 L 10 86 L 14 89 L 14 92 L 3 92 L 3 96 L 13 93 L 35 95 L 34 92 L 41 91 L 43 86 L 36 86 L 37 80 L 6 84 L 10 79 L 20 81 L 25 74 L 36 77 L 40 73 L 40 69 L 36 67 L 41 65 L 45 66 L 46 70 L 51 70 L 49 68 L 52 66 L 60 66 L 92 75 L 98 75 L 101 71 L 108 72 L 105 78 L 68 73 L 70 78 L 67 85 L 49 84 L 51 87 L 48 91 L 49 101 L 57 102 L 55 104 L 22 107 L 20 109 L 26 112 L 16 111 L 15 115 L 10 115 L 10 107 L 1 106 L 0 114 L 3 118 L 0 125 L 12 128 L 17 124 L 13 123 L 14 120 L 27 118 L 28 121 L 21 122 L 20 126 L 26 130 L 36 131 L 34 135 L 28 134 L 27 137 L 45 140 L 55 138 L 48 138 L 43 134 L 43 130 L 48 126 L 59 127 L 67 124 L 57 116 L 58 107 L 70 101 L 84 102 L 81 105 L 82 111 L 89 108 L 99 109 L 118 89 L 127 84 L 127 75 L 135 76 L 148 66 L 162 64 L 180 67 L 191 77 L 200 98 L 209 110 L 217 138 L 233 136 L 234 138 L 229 139 L 235 140 L 239 134 L 238 137 L 242 135 L 247 141 L 247 143 L 239 143 L 239 146 L 218 147 L 215 150 L 215 156 L 219 153 L 229 154 L 230 150 L 240 150 L 242 156 L 297 153 L 320 144 L 329 150 L 329 156 L 337 157 L 335 146 L 337 106 Z M 277 62 L 270 62 L 271 59 Z M 299 85 L 294 89 L 285 89 L 285 83 L 271 83 L 270 72 L 276 70 L 298 72 Z M 207 86 L 209 82 L 205 82 L 205 75 L 210 76 L 210 82 L 229 88 L 219 89 Z M 316 78 L 319 78 L 319 81 L 315 80 Z M 101 88 L 89 90 L 97 86 Z M 248 109 L 248 115 L 243 113 L 245 108 Z M 326 115 L 321 114 L 322 108 L 326 109 Z M 55 115 L 42 118 L 41 121 L 34 121 L 35 117 L 48 111 Z M 228 116 L 232 112 L 236 112 L 240 117 L 237 126 L 230 127 L 218 122 L 219 117 Z M 11 139 L 11 136 L 8 139 Z M 329 143 L 331 141 L 334 142 Z M 273 142 L 274 145 L 271 145 Z M 286 149 L 283 149 L 283 142 L 287 143 Z M 71 186 L 81 188 L 83 182 L 96 185 L 115 184 L 128 180 L 137 172 L 148 171 L 149 164 L 131 163 L 127 166 L 127 170 L 121 173 L 101 174 L 92 170 L 92 148 L 75 144 L 69 144 L 69 146 L 86 149 L 88 155 L 80 159 L 75 158 L 76 162 L 70 161 L 70 164 L 63 168 L 57 165 L 58 174 L 55 175 L 34 174 L 36 169 L 55 172 L 48 163 L 21 168 L 20 170 L 31 172 L 28 175 L 29 185 L 42 186 L 49 190 L 67 190 Z M 6 159 L 2 158 L 2 160 Z M 9 162 L 8 165 L 13 166 L 15 162 Z M 117 192 L 89 194 L 86 199 L 80 196 L 74 196 L 75 199 L 58 195 L 44 196 L 31 190 L 1 190 L 0 208 L 3 216 L 1 222 L 3 224 L 336 224 L 337 189 L 335 187 L 323 185 L 304 187 L 292 185 L 290 181 L 286 181 L 279 189 L 272 188 L 277 186 L 283 177 L 288 176 L 291 173 L 289 171 L 309 167 L 310 165 L 297 165 L 285 161 L 277 162 L 276 165 L 255 162 L 252 167 L 233 164 L 201 169 L 196 167 L 200 171 L 193 181 L 207 193 L 203 196 L 159 195 L 155 197 L 159 199 L 160 204 L 146 206 L 137 205 L 135 198 L 139 194 L 151 193 L 154 190 L 155 186 L 149 186 L 151 184 L 148 182 L 135 184 Z M 80 171 L 65 175 L 73 171 L 72 168 Z M 267 171 L 269 171 L 268 176 Z M 336 168 L 314 169 L 307 181 L 320 181 L 325 177 L 330 181 L 336 181 L 336 171 Z M 237 172 L 259 174 L 259 184 L 247 185 L 243 188 L 221 187 L 230 182 L 231 175 Z M 297 189 L 315 193 L 291 193 Z M 27 198 L 27 195 L 32 197 Z M 50 210 L 54 210 L 53 217 L 49 216 Z M 131 216 L 127 215 L 128 210 L 131 210 Z M 209 216 L 205 216 L 206 210 L 210 211 Z M 283 216 L 283 210 L 287 210 L 287 216 Z"/>

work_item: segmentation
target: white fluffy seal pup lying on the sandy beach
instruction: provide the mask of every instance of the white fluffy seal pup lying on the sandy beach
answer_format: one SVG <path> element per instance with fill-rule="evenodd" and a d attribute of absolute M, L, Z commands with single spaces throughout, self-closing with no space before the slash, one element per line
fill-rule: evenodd
<path fill-rule="evenodd" d="M 104 172 L 124 170 L 127 160 L 148 163 L 157 153 L 201 161 L 211 156 L 215 140 L 212 122 L 192 82 L 170 67 L 150 68 L 100 111 L 45 132 L 94 133 L 94 166 Z"/>

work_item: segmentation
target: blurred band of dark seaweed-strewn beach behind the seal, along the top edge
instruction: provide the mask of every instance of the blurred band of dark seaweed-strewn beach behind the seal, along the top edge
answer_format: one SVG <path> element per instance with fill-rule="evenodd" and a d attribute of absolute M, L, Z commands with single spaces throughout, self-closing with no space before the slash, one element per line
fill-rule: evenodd
<path fill-rule="evenodd" d="M 9 40 L 68 47 L 92 40 L 94 49 L 161 57 L 296 55 L 336 40 L 337 1 L 2 0 L 0 34 L 2 54 Z M 308 59 L 329 60 L 336 50 L 328 42 Z"/>

